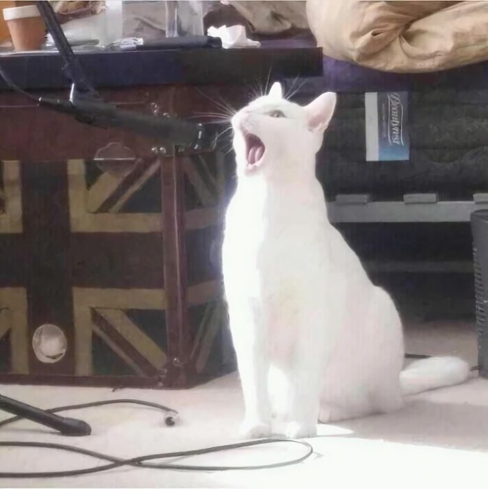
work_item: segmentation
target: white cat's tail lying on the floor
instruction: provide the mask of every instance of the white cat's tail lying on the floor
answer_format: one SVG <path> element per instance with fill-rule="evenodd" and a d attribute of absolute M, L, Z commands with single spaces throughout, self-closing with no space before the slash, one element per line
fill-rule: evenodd
<path fill-rule="evenodd" d="M 430 357 L 415 360 L 400 372 L 400 387 L 404 396 L 461 384 L 467 380 L 470 368 L 457 357 Z"/>

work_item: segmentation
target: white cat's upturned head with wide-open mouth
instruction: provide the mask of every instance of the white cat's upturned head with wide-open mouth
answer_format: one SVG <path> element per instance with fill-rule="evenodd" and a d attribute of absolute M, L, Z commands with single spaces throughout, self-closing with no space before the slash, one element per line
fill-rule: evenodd
<path fill-rule="evenodd" d="M 323 93 L 302 107 L 283 98 L 275 83 L 232 118 L 239 177 L 310 172 L 335 109 L 335 93 Z"/>

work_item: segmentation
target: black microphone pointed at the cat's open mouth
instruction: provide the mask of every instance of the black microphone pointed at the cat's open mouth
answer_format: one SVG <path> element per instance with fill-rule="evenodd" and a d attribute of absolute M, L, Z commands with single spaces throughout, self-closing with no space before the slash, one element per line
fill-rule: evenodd
<path fill-rule="evenodd" d="M 116 127 L 153 137 L 171 146 L 183 146 L 195 151 L 211 151 L 218 132 L 200 123 L 190 123 L 172 117 L 158 117 L 117 108 L 114 104 L 77 98 L 75 101 L 40 97 L 40 105 L 75 116 L 77 121 L 96 127 Z"/>

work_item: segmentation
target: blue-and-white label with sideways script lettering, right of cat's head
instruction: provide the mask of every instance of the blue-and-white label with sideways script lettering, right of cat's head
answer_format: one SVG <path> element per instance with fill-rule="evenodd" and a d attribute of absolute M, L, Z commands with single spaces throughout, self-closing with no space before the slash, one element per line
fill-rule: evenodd
<path fill-rule="evenodd" d="M 366 93 L 365 109 L 366 160 L 408 161 L 409 93 Z"/>

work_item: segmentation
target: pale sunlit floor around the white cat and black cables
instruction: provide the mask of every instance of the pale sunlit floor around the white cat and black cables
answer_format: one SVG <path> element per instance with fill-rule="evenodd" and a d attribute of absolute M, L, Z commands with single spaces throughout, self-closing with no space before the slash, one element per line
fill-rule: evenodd
<path fill-rule="evenodd" d="M 436 323 L 406 327 L 407 350 L 417 354 L 456 353 L 476 361 L 473 325 Z M 22 421 L 0 428 L 0 441 L 71 443 L 114 456 L 197 449 L 236 441 L 243 413 L 236 374 L 186 391 L 74 387 L 0 386 L 6 396 L 42 408 L 109 398 L 139 398 L 178 410 L 181 420 L 165 426 L 154 410 L 125 405 L 71 414 L 91 424 L 93 435 L 66 438 Z M 0 412 L 0 419 L 7 415 Z M 0 487 L 460 487 L 482 483 L 488 467 L 488 381 L 412 396 L 394 414 L 319 425 L 309 440 L 314 456 L 281 469 L 236 472 L 181 472 L 120 468 L 73 479 L 0 479 Z M 274 463 L 300 456 L 302 447 L 276 444 L 178 460 L 201 465 Z M 69 453 L 0 449 L 0 471 L 71 469 L 101 464 Z"/>

